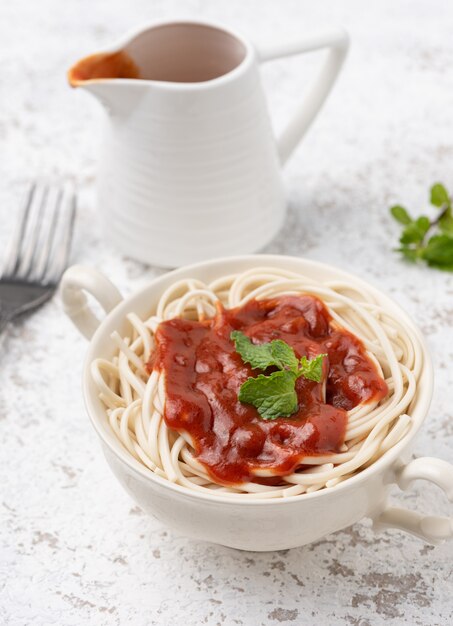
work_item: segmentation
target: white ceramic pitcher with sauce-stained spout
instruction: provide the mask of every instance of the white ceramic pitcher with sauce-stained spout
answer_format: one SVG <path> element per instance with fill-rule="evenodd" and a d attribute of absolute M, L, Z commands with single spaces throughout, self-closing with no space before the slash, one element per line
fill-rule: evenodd
<path fill-rule="evenodd" d="M 329 48 L 274 138 L 259 64 Z M 206 22 L 160 22 L 69 71 L 107 109 L 98 176 L 105 234 L 125 255 L 173 267 L 255 252 L 283 223 L 280 168 L 326 99 L 348 48 L 342 29 L 255 48 Z"/>

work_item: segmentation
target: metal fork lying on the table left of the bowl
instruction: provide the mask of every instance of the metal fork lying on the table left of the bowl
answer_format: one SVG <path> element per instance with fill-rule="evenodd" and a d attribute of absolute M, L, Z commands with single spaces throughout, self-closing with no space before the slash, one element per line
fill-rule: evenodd
<path fill-rule="evenodd" d="M 68 262 L 75 213 L 72 191 L 37 183 L 30 187 L 0 270 L 0 334 L 55 292 Z"/>

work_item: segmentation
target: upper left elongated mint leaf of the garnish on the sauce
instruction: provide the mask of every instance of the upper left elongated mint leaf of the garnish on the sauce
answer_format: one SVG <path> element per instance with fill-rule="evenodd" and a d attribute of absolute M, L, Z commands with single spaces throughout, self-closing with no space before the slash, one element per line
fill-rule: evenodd
<path fill-rule="evenodd" d="M 249 363 L 253 369 L 265 370 L 268 367 L 278 367 L 281 370 L 297 371 L 297 357 L 294 350 L 284 341 L 275 339 L 270 343 L 254 344 L 247 335 L 234 330 L 231 335 L 236 352 L 241 355 L 244 363 Z"/>

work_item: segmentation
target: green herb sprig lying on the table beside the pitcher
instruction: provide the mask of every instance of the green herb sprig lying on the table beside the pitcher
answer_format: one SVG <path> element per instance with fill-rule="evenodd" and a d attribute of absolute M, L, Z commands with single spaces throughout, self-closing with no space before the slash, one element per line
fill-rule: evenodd
<path fill-rule="evenodd" d="M 453 215 L 452 199 L 441 183 L 431 187 L 430 202 L 439 209 L 430 219 L 421 215 L 413 219 L 408 211 L 397 204 L 390 213 L 404 226 L 400 236 L 400 252 L 411 262 L 424 261 L 431 267 L 453 271 Z"/>

